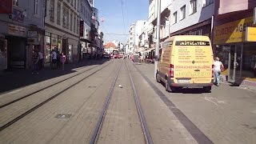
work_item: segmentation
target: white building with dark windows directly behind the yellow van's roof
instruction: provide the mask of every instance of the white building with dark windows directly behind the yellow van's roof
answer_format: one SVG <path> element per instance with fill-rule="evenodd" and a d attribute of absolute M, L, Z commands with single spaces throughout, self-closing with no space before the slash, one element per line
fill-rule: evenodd
<path fill-rule="evenodd" d="M 212 36 L 214 0 L 179 0 L 170 6 L 170 36 L 177 34 Z"/>

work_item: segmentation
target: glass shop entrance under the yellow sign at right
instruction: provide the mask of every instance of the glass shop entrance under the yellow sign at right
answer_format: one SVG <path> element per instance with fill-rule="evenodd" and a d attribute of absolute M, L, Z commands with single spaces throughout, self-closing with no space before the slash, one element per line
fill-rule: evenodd
<path fill-rule="evenodd" d="M 242 78 L 242 50 L 243 45 L 230 45 L 229 54 L 229 82 L 236 82 Z"/>

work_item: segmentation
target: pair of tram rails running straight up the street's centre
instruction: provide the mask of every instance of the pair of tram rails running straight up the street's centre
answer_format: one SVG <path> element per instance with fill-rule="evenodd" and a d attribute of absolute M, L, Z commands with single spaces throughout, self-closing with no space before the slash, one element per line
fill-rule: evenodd
<path fill-rule="evenodd" d="M 142 128 L 142 134 L 143 134 L 143 137 L 144 137 L 144 141 L 145 141 L 146 144 L 152 144 L 153 141 L 152 141 L 152 138 L 150 136 L 150 130 L 148 129 L 148 126 L 147 126 L 147 123 L 146 123 L 146 118 L 145 118 L 145 115 L 143 113 L 142 106 L 140 104 L 138 94 L 137 94 L 137 91 L 136 91 L 135 86 L 134 86 L 134 81 L 133 81 L 132 76 L 130 74 L 129 66 L 126 63 L 126 60 L 124 60 L 123 62 L 125 62 L 126 70 L 129 72 L 130 86 L 132 87 L 132 90 L 133 90 L 134 103 L 135 103 L 135 106 L 136 106 L 138 119 L 141 123 L 141 128 Z M 122 62 L 122 64 L 123 64 L 123 62 Z M 99 114 L 97 124 L 94 127 L 94 132 L 93 132 L 93 134 L 90 138 L 90 144 L 94 144 L 94 143 L 98 142 L 98 138 L 99 138 L 99 135 L 101 134 L 101 130 L 102 130 L 102 125 L 103 125 L 104 120 L 106 118 L 107 110 L 110 106 L 111 97 L 113 95 L 114 89 L 116 89 L 115 87 L 117 87 L 116 82 L 117 82 L 118 75 L 120 73 L 122 64 L 119 66 L 118 71 L 117 71 L 117 73 L 114 77 L 114 80 L 111 83 L 110 90 L 109 90 L 109 92 L 106 96 L 106 100 L 105 100 L 104 105 L 102 107 L 102 112 Z"/>

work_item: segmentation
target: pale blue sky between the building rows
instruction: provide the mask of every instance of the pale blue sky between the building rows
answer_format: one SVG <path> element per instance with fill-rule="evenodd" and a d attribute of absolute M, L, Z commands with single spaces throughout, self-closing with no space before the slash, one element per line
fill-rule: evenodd
<path fill-rule="evenodd" d="M 98 9 L 98 18 L 104 18 L 99 26 L 104 42 L 117 40 L 126 44 L 129 35 L 118 34 L 129 34 L 132 23 L 148 19 L 149 0 L 94 0 L 94 7 Z"/>

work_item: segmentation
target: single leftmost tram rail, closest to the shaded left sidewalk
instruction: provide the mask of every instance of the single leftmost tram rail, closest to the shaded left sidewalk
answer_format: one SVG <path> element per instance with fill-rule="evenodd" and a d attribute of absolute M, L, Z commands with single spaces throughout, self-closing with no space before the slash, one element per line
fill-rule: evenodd
<path fill-rule="evenodd" d="M 111 63 L 111 62 L 110 62 L 110 63 Z M 110 63 L 108 63 L 106 66 L 110 65 Z M 98 66 L 100 66 L 100 65 L 98 65 Z M 14 99 L 14 100 L 12 100 L 12 101 L 10 101 L 10 102 L 6 102 L 5 104 L 0 105 L 0 109 L 2 109 L 3 107 L 6 107 L 6 106 L 10 106 L 10 105 L 13 104 L 14 102 L 18 102 L 18 101 L 20 101 L 20 100 L 22 100 L 22 99 L 24 99 L 24 98 L 28 98 L 28 97 L 30 97 L 30 96 L 33 95 L 33 94 L 37 94 L 37 93 L 41 92 L 42 90 L 46 90 L 46 89 L 48 89 L 48 88 L 50 88 L 50 87 L 52 87 L 52 86 L 56 86 L 56 85 L 58 85 L 59 83 L 66 82 L 67 80 L 69 80 L 69 79 L 71 79 L 71 78 L 74 78 L 74 77 L 76 77 L 76 76 L 78 76 L 78 75 L 80 75 L 80 74 L 84 74 L 85 72 L 87 72 L 87 71 L 89 71 L 89 70 L 93 70 L 93 69 L 97 68 L 98 66 L 94 66 L 94 67 L 91 67 L 90 69 L 83 70 L 82 72 L 80 72 L 80 73 L 78 73 L 78 74 L 74 74 L 73 76 L 71 76 L 71 77 L 69 77 L 69 78 L 65 78 L 65 79 L 63 79 L 63 80 L 61 80 L 61 81 L 59 81 L 59 82 L 55 82 L 55 83 L 53 83 L 53 84 L 51 84 L 51 85 L 49 85 L 49 86 L 46 86 L 46 87 L 44 87 L 44 88 L 42 88 L 42 89 L 35 90 L 34 92 L 32 92 L 32 93 L 30 93 L 30 94 L 26 94 L 26 95 L 24 95 L 24 96 L 22 96 L 22 97 L 20 97 L 20 98 Z"/>

